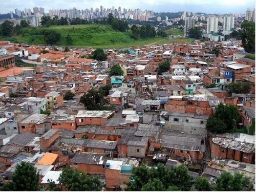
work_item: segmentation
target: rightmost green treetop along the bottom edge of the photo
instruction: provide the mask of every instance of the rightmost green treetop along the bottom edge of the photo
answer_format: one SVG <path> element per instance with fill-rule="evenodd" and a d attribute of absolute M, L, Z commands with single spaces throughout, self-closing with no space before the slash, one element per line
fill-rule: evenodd
<path fill-rule="evenodd" d="M 224 172 L 217 178 L 215 190 L 219 191 L 241 191 L 249 184 L 249 180 L 243 174 L 236 172 L 231 175 Z"/>

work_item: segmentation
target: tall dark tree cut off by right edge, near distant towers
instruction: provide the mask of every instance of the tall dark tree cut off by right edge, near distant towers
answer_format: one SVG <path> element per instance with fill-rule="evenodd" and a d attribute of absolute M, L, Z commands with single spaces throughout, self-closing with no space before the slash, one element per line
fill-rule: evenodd
<path fill-rule="evenodd" d="M 241 24 L 242 44 L 244 49 L 249 53 L 255 52 L 255 25 L 252 22 L 244 20 Z"/>

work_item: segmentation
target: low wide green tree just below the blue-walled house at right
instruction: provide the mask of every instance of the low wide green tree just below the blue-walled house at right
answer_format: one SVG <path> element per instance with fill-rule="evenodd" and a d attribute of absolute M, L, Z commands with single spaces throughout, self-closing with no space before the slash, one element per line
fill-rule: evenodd
<path fill-rule="evenodd" d="M 231 93 L 250 93 L 251 90 L 251 83 L 250 82 L 231 82 L 229 86 L 227 87 L 228 93 L 231 95 Z"/>

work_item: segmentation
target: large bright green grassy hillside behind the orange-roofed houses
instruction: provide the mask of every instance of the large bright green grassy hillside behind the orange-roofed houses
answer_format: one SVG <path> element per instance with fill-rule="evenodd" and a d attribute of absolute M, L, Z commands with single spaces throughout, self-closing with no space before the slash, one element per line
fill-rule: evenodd
<path fill-rule="evenodd" d="M 171 41 L 193 42 L 190 38 L 164 39 L 162 37 L 134 40 L 131 31 L 120 32 L 113 30 L 106 25 L 74 25 L 74 26 L 51 26 L 24 28 L 18 35 L 11 37 L 0 37 L 1 40 L 10 40 L 29 45 L 45 45 L 42 31 L 54 30 L 61 35 L 59 46 L 66 46 L 66 36 L 69 34 L 73 47 L 93 47 L 93 48 L 125 48 L 131 46 L 141 46 L 150 44 L 167 44 Z"/>

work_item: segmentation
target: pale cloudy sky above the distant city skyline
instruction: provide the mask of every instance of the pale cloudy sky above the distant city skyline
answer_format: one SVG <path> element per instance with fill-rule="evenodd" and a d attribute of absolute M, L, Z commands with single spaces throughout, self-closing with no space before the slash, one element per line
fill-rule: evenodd
<path fill-rule="evenodd" d="M 0 13 L 9 13 L 15 8 L 44 7 L 49 9 L 86 9 L 86 8 L 140 8 L 155 12 L 206 12 L 206 13 L 245 13 L 247 8 L 253 9 L 255 0 L 0 0 Z"/>

